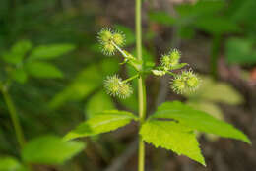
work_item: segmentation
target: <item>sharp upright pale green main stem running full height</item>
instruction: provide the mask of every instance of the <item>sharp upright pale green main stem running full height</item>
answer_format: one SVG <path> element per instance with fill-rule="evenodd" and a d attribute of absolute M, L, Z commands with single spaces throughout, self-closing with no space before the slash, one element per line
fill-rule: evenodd
<path fill-rule="evenodd" d="M 141 21 L 141 7 L 142 1 L 136 0 L 135 7 L 135 26 L 136 26 L 136 51 L 138 60 L 142 60 L 142 21 Z M 141 65 L 140 70 L 143 70 Z M 139 117 L 140 125 L 145 121 L 146 117 L 146 88 L 144 77 L 138 79 L 138 98 L 139 98 Z M 138 154 L 138 171 L 144 171 L 145 165 L 145 144 L 142 139 L 139 139 L 139 154 Z"/>

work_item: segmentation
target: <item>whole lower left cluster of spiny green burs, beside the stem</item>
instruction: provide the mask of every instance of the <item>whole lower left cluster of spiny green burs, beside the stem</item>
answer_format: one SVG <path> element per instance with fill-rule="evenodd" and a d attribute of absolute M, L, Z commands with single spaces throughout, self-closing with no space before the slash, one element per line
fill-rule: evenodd
<path fill-rule="evenodd" d="M 104 87 L 106 92 L 114 97 L 127 98 L 133 93 L 131 85 L 122 81 L 117 75 L 108 76 L 104 82 Z"/>

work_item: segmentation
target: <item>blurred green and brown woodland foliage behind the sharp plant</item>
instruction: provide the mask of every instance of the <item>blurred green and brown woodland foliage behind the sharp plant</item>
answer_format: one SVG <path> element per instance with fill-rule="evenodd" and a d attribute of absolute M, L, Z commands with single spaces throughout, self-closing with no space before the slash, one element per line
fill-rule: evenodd
<path fill-rule="evenodd" d="M 170 92 L 170 78 L 148 78 L 149 114 L 165 100 L 180 99 L 231 122 L 255 142 L 255 8 L 255 0 L 144 0 L 147 65 L 159 63 L 161 52 L 170 47 L 178 48 L 182 60 L 202 74 L 200 89 L 183 96 Z M 112 99 L 102 88 L 107 75 L 132 76 L 134 72 L 119 67 L 120 58 L 100 53 L 96 32 L 102 27 L 123 31 L 127 49 L 135 51 L 133 1 L 1 0 L 0 81 L 14 81 L 10 94 L 29 142 L 21 156 L 1 95 L 1 171 L 24 170 L 23 162 L 34 163 L 33 169 L 39 171 L 136 170 L 135 124 L 74 142 L 76 147 L 60 141 L 81 120 L 101 110 L 137 111 L 136 88 L 126 100 Z M 255 147 L 204 135 L 200 142 L 209 160 L 207 168 L 149 145 L 147 170 L 248 171 L 256 167 Z M 64 163 L 84 143 L 83 152 Z M 53 148 L 59 152 L 47 152 Z M 45 152 L 36 158 L 38 150 Z"/>

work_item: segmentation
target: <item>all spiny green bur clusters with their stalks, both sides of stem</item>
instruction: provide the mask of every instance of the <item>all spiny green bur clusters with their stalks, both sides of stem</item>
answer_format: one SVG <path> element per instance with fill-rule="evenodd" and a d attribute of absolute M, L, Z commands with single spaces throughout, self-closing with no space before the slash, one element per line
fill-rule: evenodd
<path fill-rule="evenodd" d="M 119 98 L 129 97 L 133 93 L 133 89 L 128 82 L 147 74 L 147 71 L 143 70 L 143 62 L 122 49 L 125 43 L 125 36 L 120 31 L 102 28 L 98 33 L 98 41 L 104 54 L 113 55 L 116 51 L 120 52 L 124 58 L 124 61 L 120 64 L 131 65 L 138 72 L 137 75 L 124 81 L 117 75 L 113 75 L 108 76 L 104 82 L 104 87 L 109 95 Z M 200 84 L 200 80 L 192 70 L 182 71 L 180 74 L 173 72 L 173 70 L 181 69 L 187 65 L 186 63 L 180 63 L 180 57 L 180 52 L 177 49 L 173 49 L 161 56 L 160 66 L 156 69 L 150 69 L 156 76 L 171 75 L 173 79 L 170 82 L 170 88 L 178 94 L 194 91 Z"/>

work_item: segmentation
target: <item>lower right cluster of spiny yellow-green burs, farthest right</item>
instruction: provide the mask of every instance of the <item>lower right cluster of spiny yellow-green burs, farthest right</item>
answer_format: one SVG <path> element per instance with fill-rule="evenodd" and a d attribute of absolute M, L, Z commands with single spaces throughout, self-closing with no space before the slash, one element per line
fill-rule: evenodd
<path fill-rule="evenodd" d="M 170 82 L 170 87 L 177 94 L 182 94 L 187 91 L 194 91 L 198 88 L 200 80 L 197 75 L 189 71 L 183 71 L 180 75 L 177 75 Z"/>

